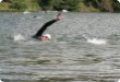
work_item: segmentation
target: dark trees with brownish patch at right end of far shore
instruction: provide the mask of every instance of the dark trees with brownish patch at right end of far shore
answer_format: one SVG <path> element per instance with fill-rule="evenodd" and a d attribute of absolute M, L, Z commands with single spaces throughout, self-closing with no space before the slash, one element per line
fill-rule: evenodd
<path fill-rule="evenodd" d="M 84 0 L 86 5 L 93 5 L 101 12 L 118 12 L 120 3 L 118 0 Z"/>

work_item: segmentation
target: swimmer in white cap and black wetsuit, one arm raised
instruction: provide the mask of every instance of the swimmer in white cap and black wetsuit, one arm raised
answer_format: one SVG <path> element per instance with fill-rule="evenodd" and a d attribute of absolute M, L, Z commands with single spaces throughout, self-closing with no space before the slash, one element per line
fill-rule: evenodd
<path fill-rule="evenodd" d="M 33 38 L 39 39 L 39 40 L 50 40 L 51 36 L 49 34 L 44 34 L 44 32 L 47 30 L 48 26 L 50 26 L 51 24 L 60 21 L 62 19 L 61 13 L 58 13 L 57 17 L 48 21 L 47 23 L 45 23 L 40 30 L 38 30 L 38 32 L 33 36 Z"/>

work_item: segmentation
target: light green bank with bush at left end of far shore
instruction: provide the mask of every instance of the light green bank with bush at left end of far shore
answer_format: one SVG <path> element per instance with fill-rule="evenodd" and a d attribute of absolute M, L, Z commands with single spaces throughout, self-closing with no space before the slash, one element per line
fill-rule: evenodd
<path fill-rule="evenodd" d="M 0 2 L 0 11 L 39 11 L 40 7 L 35 1 L 23 1 L 23 2 Z"/>

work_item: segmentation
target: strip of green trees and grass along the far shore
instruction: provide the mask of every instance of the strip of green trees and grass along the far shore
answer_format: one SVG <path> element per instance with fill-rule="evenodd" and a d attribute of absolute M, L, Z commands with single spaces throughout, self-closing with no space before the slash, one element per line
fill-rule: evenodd
<path fill-rule="evenodd" d="M 118 0 L 3 0 L 15 10 L 68 10 L 86 12 L 120 12 Z"/>

